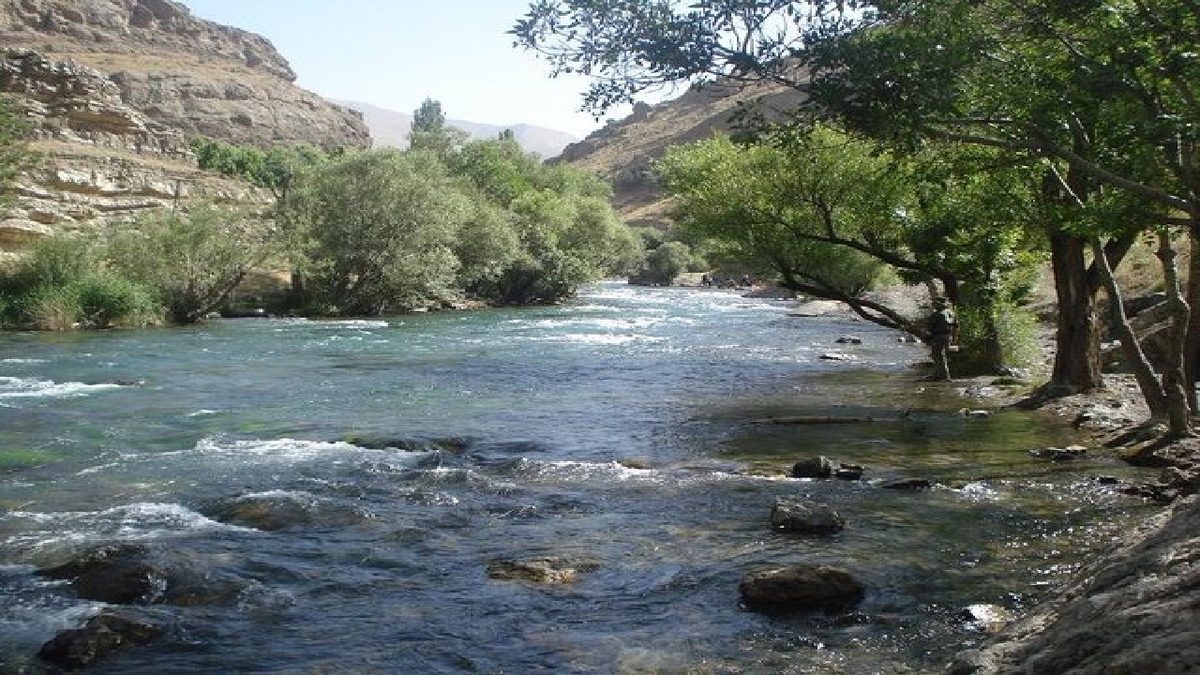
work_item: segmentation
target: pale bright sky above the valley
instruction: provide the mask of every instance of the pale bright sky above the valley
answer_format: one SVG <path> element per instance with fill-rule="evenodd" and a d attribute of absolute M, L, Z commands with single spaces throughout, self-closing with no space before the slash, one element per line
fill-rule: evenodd
<path fill-rule="evenodd" d="M 451 119 L 581 138 L 602 124 L 578 112 L 586 79 L 552 78 L 548 62 L 512 46 L 506 31 L 532 0 L 181 1 L 270 40 L 296 84 L 326 98 L 400 113 L 434 98 Z"/>

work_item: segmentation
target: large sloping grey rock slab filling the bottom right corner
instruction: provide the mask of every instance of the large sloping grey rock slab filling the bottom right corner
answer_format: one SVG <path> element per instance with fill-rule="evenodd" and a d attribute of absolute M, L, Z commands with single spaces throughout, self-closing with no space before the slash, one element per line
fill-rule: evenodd
<path fill-rule="evenodd" d="M 1194 675 L 1200 663 L 1200 498 L 1096 556 L 953 675 Z"/>

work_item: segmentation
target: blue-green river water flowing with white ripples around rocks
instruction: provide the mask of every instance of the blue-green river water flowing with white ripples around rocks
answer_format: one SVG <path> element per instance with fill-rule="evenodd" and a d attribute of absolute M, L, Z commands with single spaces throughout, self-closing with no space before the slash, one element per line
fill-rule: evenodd
<path fill-rule="evenodd" d="M 791 310 L 605 283 L 546 309 L 0 335 L 0 674 L 104 609 L 36 572 L 114 543 L 216 591 L 148 608 L 167 634 L 92 673 L 931 673 L 982 639 L 964 607 L 1020 609 L 1136 516 L 1096 480 L 1133 470 L 1028 454 L 1069 430 L 964 417 L 979 404 L 922 383 L 919 346 Z M 815 454 L 865 479 L 784 477 Z M 936 486 L 877 486 L 908 476 Z M 847 528 L 772 531 L 784 496 Z M 280 510 L 254 526 L 239 501 Z M 494 574 L 539 558 L 574 578 Z M 738 605 L 743 575 L 798 562 L 869 592 Z"/>

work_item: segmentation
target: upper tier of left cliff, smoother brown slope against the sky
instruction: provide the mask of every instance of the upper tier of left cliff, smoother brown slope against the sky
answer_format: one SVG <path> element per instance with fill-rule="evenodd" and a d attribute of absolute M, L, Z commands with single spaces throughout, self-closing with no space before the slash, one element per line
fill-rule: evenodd
<path fill-rule="evenodd" d="M 295 86 L 266 38 L 170 0 L 0 0 L 0 43 L 90 66 L 125 103 L 190 137 L 370 144 L 362 117 Z"/>

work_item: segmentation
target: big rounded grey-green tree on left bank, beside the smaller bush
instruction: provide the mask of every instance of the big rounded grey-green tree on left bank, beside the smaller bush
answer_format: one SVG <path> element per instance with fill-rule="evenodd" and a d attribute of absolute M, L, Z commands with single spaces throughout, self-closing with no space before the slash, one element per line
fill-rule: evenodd
<path fill-rule="evenodd" d="M 328 311 L 382 315 L 457 294 L 455 237 L 472 209 L 431 153 L 330 160 L 301 175 L 287 211 L 306 241 L 306 292 Z"/>

